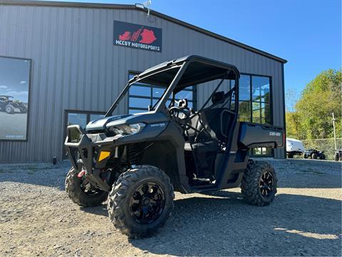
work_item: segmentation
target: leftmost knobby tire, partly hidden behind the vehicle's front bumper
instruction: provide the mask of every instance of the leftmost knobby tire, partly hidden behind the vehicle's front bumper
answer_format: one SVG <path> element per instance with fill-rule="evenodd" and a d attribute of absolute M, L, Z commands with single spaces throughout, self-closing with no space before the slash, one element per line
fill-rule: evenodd
<path fill-rule="evenodd" d="M 74 203 L 83 207 L 98 206 L 107 199 L 108 192 L 100 189 L 92 193 L 83 191 L 81 188 L 82 178 L 78 178 L 77 174 L 78 171 L 71 168 L 66 176 L 66 193 Z"/>

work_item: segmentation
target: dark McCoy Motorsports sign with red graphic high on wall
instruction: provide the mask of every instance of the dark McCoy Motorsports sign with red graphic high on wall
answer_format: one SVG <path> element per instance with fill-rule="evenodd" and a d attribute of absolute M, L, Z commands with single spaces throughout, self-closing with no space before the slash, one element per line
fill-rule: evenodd
<path fill-rule="evenodd" d="M 162 51 L 162 29 L 114 21 L 114 44 L 135 49 Z"/>

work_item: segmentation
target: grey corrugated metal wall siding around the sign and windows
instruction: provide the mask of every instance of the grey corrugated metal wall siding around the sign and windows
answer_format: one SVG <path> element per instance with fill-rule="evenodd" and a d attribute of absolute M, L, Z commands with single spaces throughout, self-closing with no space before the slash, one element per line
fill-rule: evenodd
<path fill-rule="evenodd" d="M 114 20 L 162 28 L 162 53 L 113 46 Z M 159 17 L 147 18 L 143 11 L 0 5 L 0 56 L 32 59 L 28 141 L 0 142 L 0 161 L 61 158 L 65 109 L 105 111 L 128 71 L 190 54 L 234 64 L 242 73 L 271 76 L 274 124 L 283 125 L 279 61 Z M 200 89 L 199 103 L 208 94 L 209 88 Z M 276 158 L 283 156 L 284 150 L 276 150 Z"/>

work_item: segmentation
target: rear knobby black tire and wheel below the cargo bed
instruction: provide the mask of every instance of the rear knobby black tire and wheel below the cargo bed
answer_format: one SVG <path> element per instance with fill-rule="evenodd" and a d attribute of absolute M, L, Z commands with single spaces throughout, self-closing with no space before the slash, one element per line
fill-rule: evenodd
<path fill-rule="evenodd" d="M 269 173 L 272 184 L 269 193 L 265 196 L 263 188 L 261 188 L 261 179 Z M 267 206 L 274 200 L 276 195 L 276 173 L 274 168 L 265 161 L 249 160 L 244 177 L 241 182 L 242 196 L 245 201 L 256 206 Z M 269 184 L 270 185 L 270 184 Z"/>

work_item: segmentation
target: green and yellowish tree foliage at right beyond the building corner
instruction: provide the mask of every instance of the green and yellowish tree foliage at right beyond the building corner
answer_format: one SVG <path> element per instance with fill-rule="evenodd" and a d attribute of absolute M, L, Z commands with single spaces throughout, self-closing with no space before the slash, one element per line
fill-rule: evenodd
<path fill-rule="evenodd" d="M 294 110 L 286 112 L 288 137 L 299 139 L 332 138 L 332 116 L 336 119 L 336 136 L 342 136 L 342 74 L 329 69 L 306 85 Z"/>

